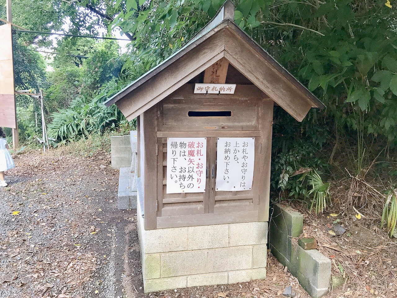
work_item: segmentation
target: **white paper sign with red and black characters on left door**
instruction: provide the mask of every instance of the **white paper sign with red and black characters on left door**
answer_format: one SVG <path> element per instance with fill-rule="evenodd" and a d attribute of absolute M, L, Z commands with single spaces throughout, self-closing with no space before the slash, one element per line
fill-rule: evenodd
<path fill-rule="evenodd" d="M 167 194 L 205 192 L 206 137 L 167 139 Z"/>

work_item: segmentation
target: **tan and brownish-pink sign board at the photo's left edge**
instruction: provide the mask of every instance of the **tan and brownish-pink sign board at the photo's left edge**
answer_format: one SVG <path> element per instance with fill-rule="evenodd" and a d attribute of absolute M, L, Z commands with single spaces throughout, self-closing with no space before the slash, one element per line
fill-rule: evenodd
<path fill-rule="evenodd" d="M 11 24 L 0 26 L 0 126 L 17 128 Z"/>

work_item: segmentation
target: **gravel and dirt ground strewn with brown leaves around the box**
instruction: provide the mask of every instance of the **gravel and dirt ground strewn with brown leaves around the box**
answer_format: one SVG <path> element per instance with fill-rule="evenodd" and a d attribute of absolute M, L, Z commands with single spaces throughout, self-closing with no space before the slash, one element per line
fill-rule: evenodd
<path fill-rule="evenodd" d="M 110 167 L 110 156 L 36 151 L 18 155 L 15 163 L 6 172 L 10 186 L 0 189 L 0 298 L 273 298 L 283 297 L 289 285 L 297 298 L 309 297 L 270 254 L 264 280 L 144 294 L 136 210 L 117 209 L 119 173 Z M 308 217 L 309 234 L 316 232 L 312 223 Z M 387 262 L 389 281 L 397 265 L 395 259 Z M 368 297 L 382 297 L 384 291 L 375 289 Z M 344 287 L 330 297 L 367 297 L 357 292 Z"/>

